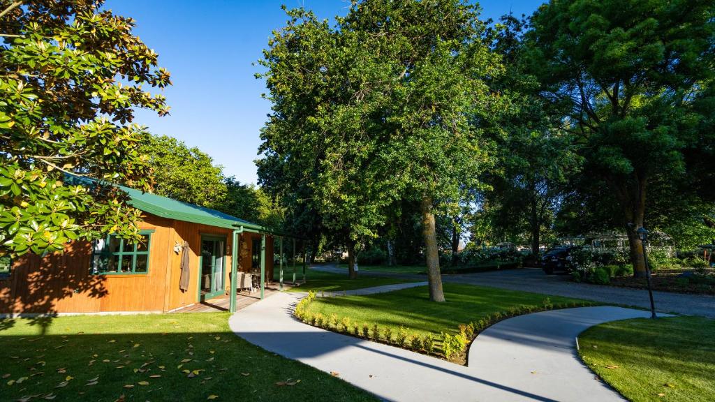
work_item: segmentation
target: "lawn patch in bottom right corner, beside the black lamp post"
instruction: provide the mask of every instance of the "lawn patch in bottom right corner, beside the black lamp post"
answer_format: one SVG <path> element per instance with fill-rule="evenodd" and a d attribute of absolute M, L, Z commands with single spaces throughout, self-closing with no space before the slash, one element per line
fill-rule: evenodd
<path fill-rule="evenodd" d="M 578 341 L 588 367 L 631 401 L 715 401 L 715 320 L 615 321 Z"/>

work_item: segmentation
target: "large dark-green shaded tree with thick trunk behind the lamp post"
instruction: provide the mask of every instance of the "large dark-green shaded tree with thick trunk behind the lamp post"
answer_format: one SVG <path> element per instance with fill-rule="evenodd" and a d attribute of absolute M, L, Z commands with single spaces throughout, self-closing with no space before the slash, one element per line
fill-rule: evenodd
<path fill-rule="evenodd" d="M 715 7 L 710 0 L 554 0 L 534 14 L 528 40 L 543 95 L 566 105 L 562 127 L 605 183 L 626 230 L 636 276 L 649 188 L 687 180 L 686 155 L 710 132 Z M 709 112 L 706 112 L 709 113 Z"/>

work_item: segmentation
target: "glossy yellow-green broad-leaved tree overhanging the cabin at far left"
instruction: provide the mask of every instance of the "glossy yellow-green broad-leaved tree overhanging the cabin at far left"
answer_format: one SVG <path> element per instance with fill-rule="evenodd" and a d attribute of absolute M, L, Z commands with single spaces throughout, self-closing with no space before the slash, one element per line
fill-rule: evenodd
<path fill-rule="evenodd" d="M 170 84 L 134 21 L 101 0 L 0 1 L 0 253 L 62 250 L 68 240 L 137 236 L 139 211 L 112 186 L 150 189 L 134 109 L 167 114 L 147 87 Z"/>

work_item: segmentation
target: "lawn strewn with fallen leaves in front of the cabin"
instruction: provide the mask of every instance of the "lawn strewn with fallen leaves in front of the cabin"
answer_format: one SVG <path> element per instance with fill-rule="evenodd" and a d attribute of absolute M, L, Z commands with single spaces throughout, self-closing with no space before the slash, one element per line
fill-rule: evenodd
<path fill-rule="evenodd" d="M 228 317 L 84 315 L 54 318 L 44 330 L 27 319 L 0 320 L 0 400 L 48 393 L 55 401 L 375 400 L 238 338 Z"/>

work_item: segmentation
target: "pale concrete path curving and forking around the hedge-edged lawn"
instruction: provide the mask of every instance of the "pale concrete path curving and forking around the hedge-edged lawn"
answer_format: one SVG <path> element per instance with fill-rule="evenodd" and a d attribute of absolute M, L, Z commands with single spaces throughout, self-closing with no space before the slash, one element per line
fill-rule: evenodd
<path fill-rule="evenodd" d="M 511 318 L 478 336 L 465 367 L 305 325 L 291 315 L 301 297 L 280 293 L 250 305 L 232 315 L 230 327 L 255 345 L 338 373 L 387 401 L 623 401 L 581 363 L 575 338 L 591 325 L 648 316 L 594 307 Z"/>

